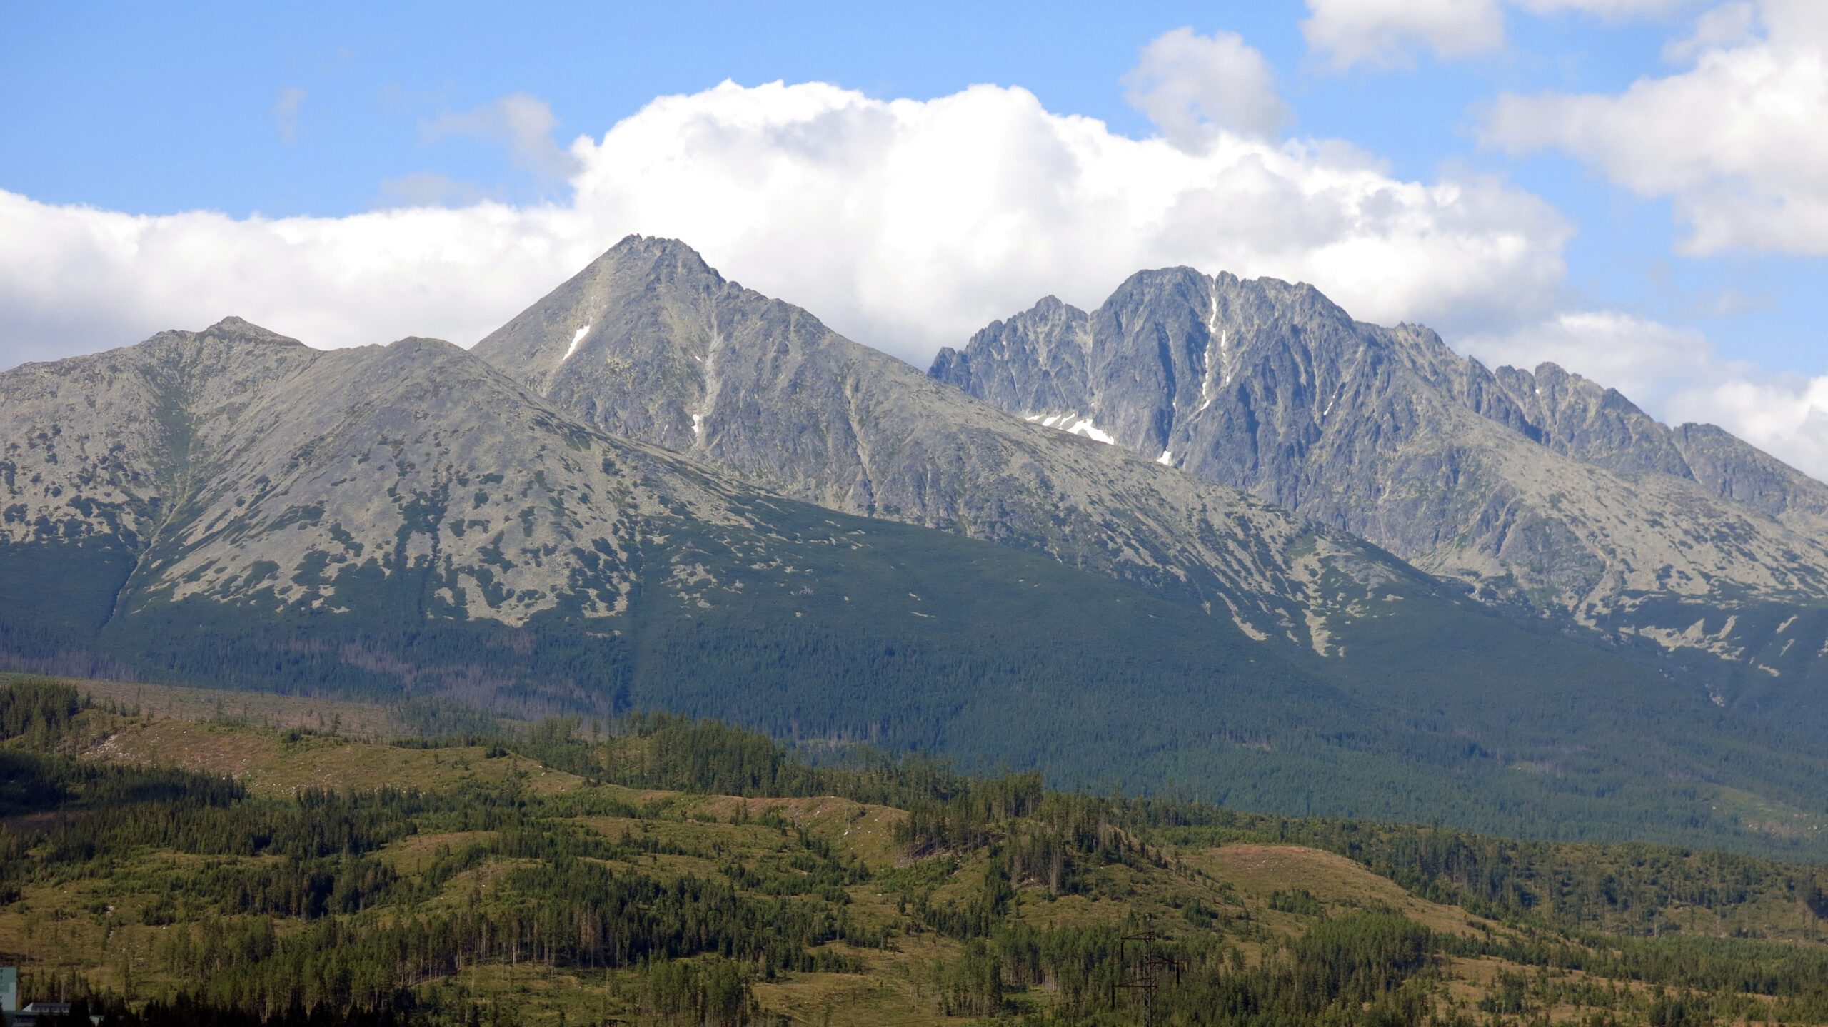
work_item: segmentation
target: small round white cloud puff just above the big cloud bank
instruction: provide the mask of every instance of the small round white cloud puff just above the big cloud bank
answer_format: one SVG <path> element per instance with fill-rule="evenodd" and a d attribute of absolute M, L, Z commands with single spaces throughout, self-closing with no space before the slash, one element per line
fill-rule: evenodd
<path fill-rule="evenodd" d="M 1163 33 L 1142 48 L 1124 86 L 1130 106 L 1183 150 L 1199 150 L 1227 128 L 1269 137 L 1291 117 L 1269 60 L 1238 33 Z"/>

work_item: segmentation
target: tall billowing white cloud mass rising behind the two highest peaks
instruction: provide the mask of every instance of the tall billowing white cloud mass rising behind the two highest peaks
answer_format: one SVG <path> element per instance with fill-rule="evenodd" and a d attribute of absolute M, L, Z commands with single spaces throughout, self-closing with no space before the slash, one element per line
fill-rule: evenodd
<path fill-rule="evenodd" d="M 993 86 L 883 102 L 726 84 L 578 152 L 579 208 L 689 239 L 916 362 L 1042 294 L 1095 305 L 1181 263 L 1307 280 L 1369 318 L 1510 316 L 1557 287 L 1568 232 L 1501 183 L 1398 181 L 1349 146 L 1228 132 L 1188 154 Z"/>

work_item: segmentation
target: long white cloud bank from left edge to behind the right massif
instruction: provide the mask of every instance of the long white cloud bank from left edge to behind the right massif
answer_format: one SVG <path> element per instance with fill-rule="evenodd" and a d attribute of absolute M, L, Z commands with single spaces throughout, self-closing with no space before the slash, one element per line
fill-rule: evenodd
<path fill-rule="evenodd" d="M 565 155 L 572 197 L 525 206 L 236 219 L 0 192 L 0 367 L 225 314 L 314 345 L 468 345 L 629 232 L 686 239 L 916 364 L 1044 294 L 1095 305 L 1133 270 L 1183 263 L 1462 331 L 1541 316 L 1568 236 L 1497 181 L 1402 181 L 1345 144 L 1225 130 L 1190 154 L 1018 88 L 877 101 L 726 82 Z"/>

